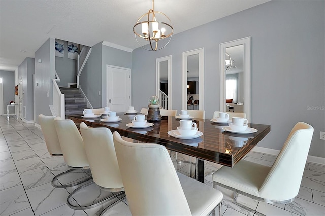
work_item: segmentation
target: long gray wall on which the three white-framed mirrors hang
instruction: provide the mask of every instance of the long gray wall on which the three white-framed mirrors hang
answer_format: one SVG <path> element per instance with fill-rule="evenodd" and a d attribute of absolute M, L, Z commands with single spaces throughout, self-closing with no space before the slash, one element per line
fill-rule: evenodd
<path fill-rule="evenodd" d="M 204 35 L 202 35 L 204 34 Z M 219 44 L 251 36 L 251 122 L 270 124 L 259 147 L 280 150 L 299 122 L 315 131 L 309 155 L 325 157 L 325 2 L 270 1 L 175 34 L 162 50 L 132 52 L 132 104 L 155 94 L 155 59 L 172 55 L 173 109 L 181 110 L 182 52 L 204 47 L 206 118 L 219 110 Z M 317 108 L 319 107 L 319 109 Z"/>

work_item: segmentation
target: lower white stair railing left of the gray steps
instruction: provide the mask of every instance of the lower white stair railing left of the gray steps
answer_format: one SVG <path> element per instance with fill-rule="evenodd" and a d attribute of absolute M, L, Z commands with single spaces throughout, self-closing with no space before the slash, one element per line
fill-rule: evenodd
<path fill-rule="evenodd" d="M 64 110 L 64 94 L 61 93 L 59 86 L 56 83 L 56 79 L 53 81 L 53 109 L 54 116 L 60 116 L 62 119 L 66 118 L 66 111 Z"/>

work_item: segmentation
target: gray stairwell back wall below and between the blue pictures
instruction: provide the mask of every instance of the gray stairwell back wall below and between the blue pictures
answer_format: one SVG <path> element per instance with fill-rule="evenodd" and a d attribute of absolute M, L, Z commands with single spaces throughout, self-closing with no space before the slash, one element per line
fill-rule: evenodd
<path fill-rule="evenodd" d="M 55 56 L 55 70 L 60 78 L 58 86 L 67 87 L 68 83 L 77 83 L 77 60 L 68 58 L 68 42 L 64 41 L 64 56 Z"/>

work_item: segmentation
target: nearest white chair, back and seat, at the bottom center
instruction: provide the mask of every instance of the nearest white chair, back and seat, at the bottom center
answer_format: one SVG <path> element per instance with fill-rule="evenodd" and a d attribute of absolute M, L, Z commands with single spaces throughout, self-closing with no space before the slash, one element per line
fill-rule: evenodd
<path fill-rule="evenodd" d="M 167 149 L 159 144 L 124 141 L 113 133 L 118 165 L 132 215 L 209 215 L 222 193 L 177 173 Z"/>

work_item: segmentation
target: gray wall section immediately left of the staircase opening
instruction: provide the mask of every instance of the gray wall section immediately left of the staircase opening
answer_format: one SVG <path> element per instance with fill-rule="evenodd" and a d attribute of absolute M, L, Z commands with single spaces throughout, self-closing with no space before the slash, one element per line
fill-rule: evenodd
<path fill-rule="evenodd" d="M 42 63 L 38 63 L 38 59 Z M 55 78 L 55 39 L 49 38 L 35 52 L 35 109 L 36 116 L 51 116 L 49 105 L 53 105 L 53 81 Z M 47 97 L 47 93 L 49 97 Z M 38 118 L 36 118 L 38 123 Z"/>

